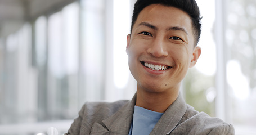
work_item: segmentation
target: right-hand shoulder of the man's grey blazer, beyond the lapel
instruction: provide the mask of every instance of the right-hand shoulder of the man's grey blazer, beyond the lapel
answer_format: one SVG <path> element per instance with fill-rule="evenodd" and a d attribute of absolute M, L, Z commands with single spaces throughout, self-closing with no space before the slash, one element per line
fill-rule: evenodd
<path fill-rule="evenodd" d="M 186 113 L 177 128 L 186 128 L 188 134 L 235 134 L 231 124 L 206 113 L 199 113 L 190 105 L 187 105 Z"/>

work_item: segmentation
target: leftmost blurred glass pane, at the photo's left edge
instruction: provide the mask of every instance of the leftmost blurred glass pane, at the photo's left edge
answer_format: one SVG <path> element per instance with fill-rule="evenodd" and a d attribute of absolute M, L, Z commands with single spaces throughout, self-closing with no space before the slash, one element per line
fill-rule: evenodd
<path fill-rule="evenodd" d="M 17 34 L 8 35 L 5 41 L 5 59 L 3 60 L 3 91 L 2 91 L 2 108 L 0 121 L 2 124 L 9 124 L 17 122 L 16 111 L 16 98 L 12 98 L 16 95 L 17 84 Z"/>

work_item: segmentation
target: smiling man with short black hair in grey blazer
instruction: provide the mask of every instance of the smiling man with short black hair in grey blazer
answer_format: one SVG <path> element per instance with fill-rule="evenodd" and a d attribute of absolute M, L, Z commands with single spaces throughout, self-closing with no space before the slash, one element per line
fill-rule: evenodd
<path fill-rule="evenodd" d="M 195 0 L 138 0 L 127 36 L 129 69 L 137 80 L 131 101 L 84 104 L 67 134 L 234 134 L 179 95 L 201 54 Z"/>

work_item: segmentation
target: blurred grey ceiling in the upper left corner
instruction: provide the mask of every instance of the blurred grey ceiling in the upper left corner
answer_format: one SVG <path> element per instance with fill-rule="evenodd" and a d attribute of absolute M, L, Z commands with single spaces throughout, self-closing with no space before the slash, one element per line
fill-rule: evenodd
<path fill-rule="evenodd" d="M 0 38 L 19 29 L 25 21 L 76 0 L 0 0 Z"/>

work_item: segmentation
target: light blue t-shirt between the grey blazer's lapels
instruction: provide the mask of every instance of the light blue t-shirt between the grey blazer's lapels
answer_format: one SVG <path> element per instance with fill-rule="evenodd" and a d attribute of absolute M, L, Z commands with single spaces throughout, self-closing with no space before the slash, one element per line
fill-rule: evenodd
<path fill-rule="evenodd" d="M 134 106 L 133 122 L 131 123 L 129 135 L 149 135 L 163 114 Z"/>

